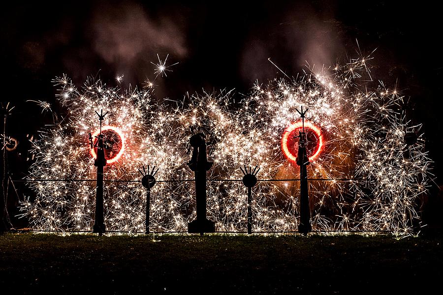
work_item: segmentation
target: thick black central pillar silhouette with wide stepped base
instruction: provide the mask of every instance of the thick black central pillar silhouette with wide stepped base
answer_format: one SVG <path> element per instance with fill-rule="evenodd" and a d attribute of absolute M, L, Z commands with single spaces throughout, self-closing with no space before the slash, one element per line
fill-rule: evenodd
<path fill-rule="evenodd" d="M 197 217 L 188 224 L 188 233 L 214 233 L 215 223 L 206 218 L 206 173 L 211 169 L 213 162 L 209 162 L 206 156 L 206 142 L 203 133 L 197 133 L 190 137 L 192 147 L 191 159 L 188 162 L 190 170 L 195 177 L 195 201 Z"/>

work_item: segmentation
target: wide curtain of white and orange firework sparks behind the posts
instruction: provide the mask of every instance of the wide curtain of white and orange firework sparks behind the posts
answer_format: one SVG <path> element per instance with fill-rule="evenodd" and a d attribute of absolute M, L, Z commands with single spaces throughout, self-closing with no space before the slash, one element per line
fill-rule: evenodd
<path fill-rule="evenodd" d="M 216 230 L 246 231 L 247 188 L 240 169 L 246 164 L 261 168 L 253 188 L 253 231 L 296 231 L 299 168 L 289 155 L 296 155 L 296 108 L 305 106 L 312 130 L 313 230 L 409 234 L 420 222 L 417 204 L 432 162 L 420 125 L 412 125 L 402 111 L 404 97 L 382 85 L 361 90 L 357 82 L 369 73 L 367 60 L 256 83 L 240 101 L 221 91 L 154 103 L 150 88 L 123 90 L 88 81 L 77 89 L 67 77 L 57 78 L 67 115 L 33 142 L 29 183 L 36 197 L 23 202 L 23 215 L 38 230 L 92 229 L 95 182 L 81 180 L 95 179 L 88 134 L 99 128 L 94 111 L 103 109 L 109 111 L 103 124 L 119 130 L 115 152 L 124 150 L 105 167 L 104 179 L 118 180 L 105 181 L 107 229 L 144 232 L 145 189 L 130 180 L 137 180 L 139 167 L 152 164 L 159 181 L 151 189 L 151 231 L 187 231 L 195 218 L 195 189 L 193 181 L 179 180 L 193 178 L 186 165 L 189 138 L 202 132 L 214 161 L 207 207 Z M 67 179 L 78 181 L 49 181 Z"/>

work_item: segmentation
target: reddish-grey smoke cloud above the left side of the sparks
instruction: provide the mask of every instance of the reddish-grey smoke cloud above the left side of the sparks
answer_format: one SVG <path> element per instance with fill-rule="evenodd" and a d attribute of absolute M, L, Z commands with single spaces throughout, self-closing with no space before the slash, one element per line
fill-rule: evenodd
<path fill-rule="evenodd" d="M 150 62 L 156 61 L 157 53 L 186 58 L 185 29 L 182 17 L 158 12 L 150 17 L 135 3 L 99 7 L 92 20 L 94 50 L 120 71 L 149 65 L 152 72 Z"/>

